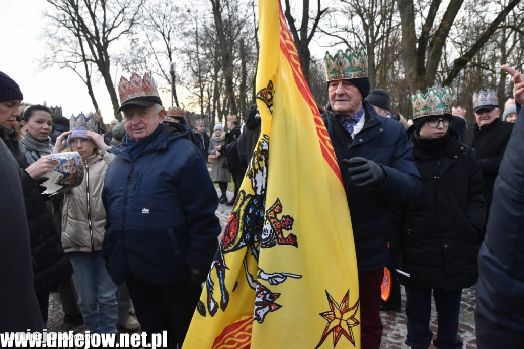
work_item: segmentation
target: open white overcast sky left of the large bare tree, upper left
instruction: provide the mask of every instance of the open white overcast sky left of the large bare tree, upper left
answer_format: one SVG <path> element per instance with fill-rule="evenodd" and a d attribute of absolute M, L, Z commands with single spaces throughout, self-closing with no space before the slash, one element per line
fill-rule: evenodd
<path fill-rule="evenodd" d="M 38 67 L 36 59 L 43 55 L 45 43 L 40 42 L 45 0 L 0 0 L 0 70 L 13 78 L 31 104 L 62 106 L 63 115 L 89 113 L 93 104 L 83 81 L 70 69 Z M 105 86 L 94 86 L 104 122 L 113 118 L 113 108 Z"/>

